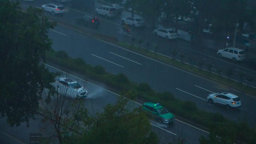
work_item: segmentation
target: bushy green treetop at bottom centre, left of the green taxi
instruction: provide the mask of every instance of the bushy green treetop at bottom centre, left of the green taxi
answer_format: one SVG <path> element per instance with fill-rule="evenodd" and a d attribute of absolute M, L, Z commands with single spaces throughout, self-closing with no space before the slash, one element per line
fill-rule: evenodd
<path fill-rule="evenodd" d="M 128 93 L 132 97 L 137 95 Z M 158 137 L 150 130 L 146 112 L 141 107 L 132 107 L 128 101 L 119 97 L 116 104 L 109 104 L 103 113 L 97 113 L 91 131 L 83 135 L 83 143 L 158 144 Z"/>

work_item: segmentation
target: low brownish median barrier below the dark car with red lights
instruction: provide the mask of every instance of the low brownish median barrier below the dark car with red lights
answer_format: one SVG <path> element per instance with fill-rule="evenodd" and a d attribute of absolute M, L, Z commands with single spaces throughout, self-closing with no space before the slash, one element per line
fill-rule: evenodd
<path fill-rule="evenodd" d="M 113 37 L 113 36 L 109 36 L 109 35 L 106 35 L 106 34 L 97 33 L 95 31 L 88 30 L 88 29 L 85 29 L 83 27 L 80 27 L 80 26 L 77 26 L 77 25 L 70 24 L 68 22 L 62 21 L 61 19 L 56 19 L 56 18 L 53 18 L 53 17 L 48 17 L 48 18 L 51 21 L 57 22 L 58 25 L 61 25 L 63 27 L 67 27 L 69 29 L 72 29 L 72 30 L 77 31 L 77 32 L 82 33 L 82 34 L 85 34 L 87 36 L 95 37 L 97 39 L 106 40 L 106 41 L 109 41 L 109 42 L 118 42 L 118 38 L 117 37 Z"/>

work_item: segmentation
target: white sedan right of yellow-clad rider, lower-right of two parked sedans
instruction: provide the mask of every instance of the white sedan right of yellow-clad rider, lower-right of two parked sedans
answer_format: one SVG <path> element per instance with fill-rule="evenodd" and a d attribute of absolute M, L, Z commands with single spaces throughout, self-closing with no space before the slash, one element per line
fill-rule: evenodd
<path fill-rule="evenodd" d="M 165 39 L 177 39 L 178 37 L 180 37 L 180 34 L 175 33 L 173 29 L 154 30 L 153 34 L 155 36 L 164 37 Z"/>

